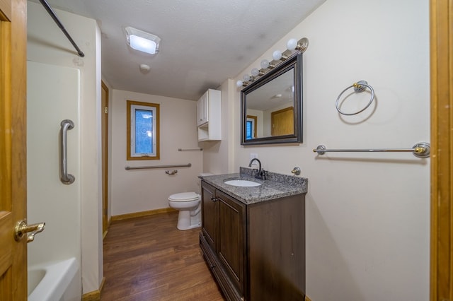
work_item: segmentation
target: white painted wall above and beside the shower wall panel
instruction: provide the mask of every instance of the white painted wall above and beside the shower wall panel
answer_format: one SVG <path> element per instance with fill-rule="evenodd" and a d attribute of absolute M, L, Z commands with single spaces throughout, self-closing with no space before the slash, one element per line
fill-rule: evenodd
<path fill-rule="evenodd" d="M 55 12 L 85 57 L 77 55 L 40 4 L 28 1 L 27 59 L 69 66 L 81 72 L 81 271 L 83 293 L 89 293 L 98 290 L 103 278 L 101 164 L 98 164 L 101 158 L 101 31 L 96 20 L 57 9 Z"/>

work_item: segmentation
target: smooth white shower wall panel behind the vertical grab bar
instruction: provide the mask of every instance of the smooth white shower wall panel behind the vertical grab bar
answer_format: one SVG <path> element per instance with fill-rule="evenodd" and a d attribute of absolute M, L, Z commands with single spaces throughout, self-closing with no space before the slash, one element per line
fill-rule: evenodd
<path fill-rule="evenodd" d="M 45 222 L 45 230 L 28 244 L 28 264 L 75 257 L 81 262 L 80 231 L 80 71 L 27 64 L 27 220 Z M 59 129 L 63 119 L 74 122 L 67 132 L 68 172 L 72 184 L 59 180 Z"/>

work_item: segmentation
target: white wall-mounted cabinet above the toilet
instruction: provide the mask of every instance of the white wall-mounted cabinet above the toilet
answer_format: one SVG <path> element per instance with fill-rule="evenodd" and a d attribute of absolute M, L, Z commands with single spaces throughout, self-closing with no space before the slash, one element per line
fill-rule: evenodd
<path fill-rule="evenodd" d="M 221 93 L 209 89 L 197 102 L 198 141 L 219 141 L 221 132 Z"/>

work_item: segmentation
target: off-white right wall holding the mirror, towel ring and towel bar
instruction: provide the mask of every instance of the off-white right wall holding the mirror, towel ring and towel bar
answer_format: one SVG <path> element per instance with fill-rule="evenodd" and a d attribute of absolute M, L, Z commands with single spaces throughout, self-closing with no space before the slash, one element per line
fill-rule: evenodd
<path fill-rule="evenodd" d="M 309 38 L 304 54 L 304 142 L 240 146 L 240 94 L 229 95 L 233 169 L 258 153 L 266 170 L 302 168 L 306 194 L 306 293 L 323 300 L 428 300 L 430 159 L 411 153 L 328 153 L 312 149 L 411 148 L 430 141 L 428 1 L 326 1 L 280 42 L 224 85 L 231 85 L 285 49 Z M 345 117 L 338 94 L 360 80 L 374 105 Z M 357 107 L 357 98 L 348 98 Z M 345 105 L 347 105 L 345 103 Z M 350 104 L 348 104 L 350 105 Z M 231 126 L 233 124 L 234 126 Z"/>

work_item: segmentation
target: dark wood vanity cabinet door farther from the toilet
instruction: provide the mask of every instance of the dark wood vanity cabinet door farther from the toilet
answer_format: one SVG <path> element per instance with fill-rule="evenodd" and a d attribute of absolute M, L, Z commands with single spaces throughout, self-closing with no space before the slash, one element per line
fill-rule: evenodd
<path fill-rule="evenodd" d="M 246 206 L 217 191 L 219 206 L 219 236 L 217 254 L 231 281 L 241 294 L 244 293 Z"/>

